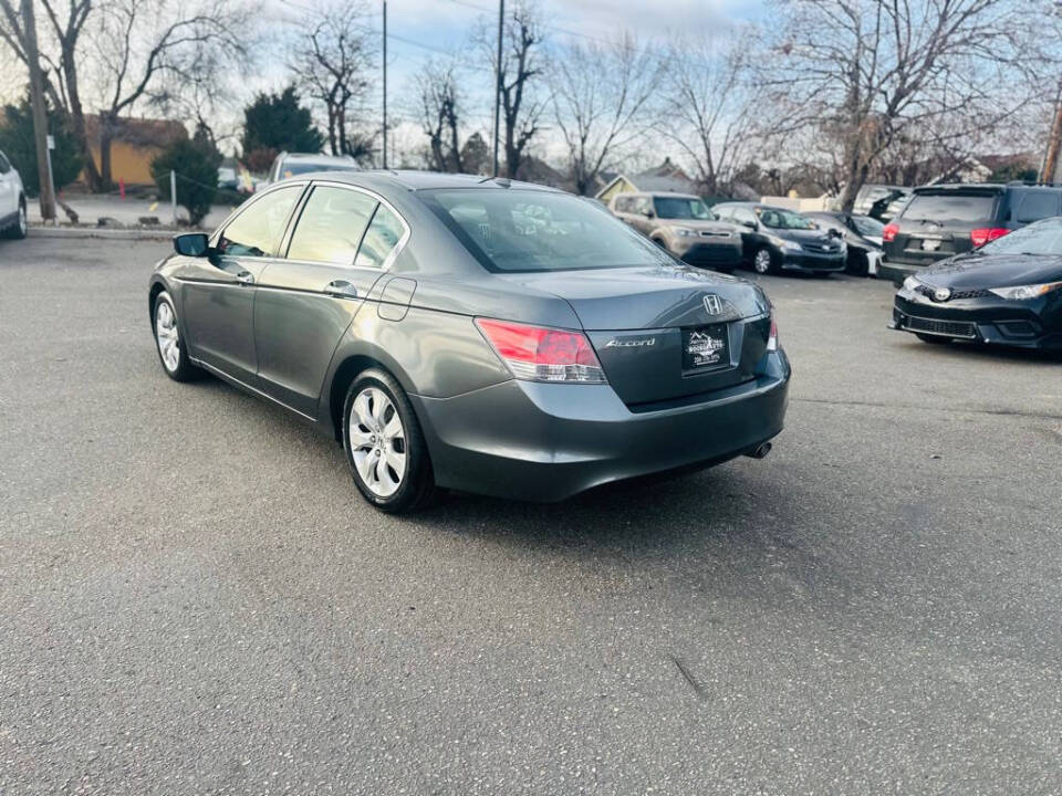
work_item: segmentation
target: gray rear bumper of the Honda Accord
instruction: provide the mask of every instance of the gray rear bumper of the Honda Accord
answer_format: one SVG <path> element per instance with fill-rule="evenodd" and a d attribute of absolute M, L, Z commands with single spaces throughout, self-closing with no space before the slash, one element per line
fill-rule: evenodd
<path fill-rule="evenodd" d="M 410 396 L 439 486 L 559 501 L 610 481 L 751 451 L 782 430 L 789 362 L 710 394 L 633 412 L 608 385 L 510 380 L 446 399 Z M 704 398 L 704 397 L 701 397 Z"/>

